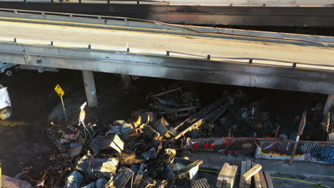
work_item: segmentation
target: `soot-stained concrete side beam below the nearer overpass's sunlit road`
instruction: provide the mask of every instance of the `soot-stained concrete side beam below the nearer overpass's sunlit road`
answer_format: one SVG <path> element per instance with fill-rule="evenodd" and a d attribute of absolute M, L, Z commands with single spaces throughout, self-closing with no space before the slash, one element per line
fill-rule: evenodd
<path fill-rule="evenodd" d="M 0 62 L 310 93 L 334 93 L 334 72 L 310 68 L 22 43 L 0 43 Z"/>

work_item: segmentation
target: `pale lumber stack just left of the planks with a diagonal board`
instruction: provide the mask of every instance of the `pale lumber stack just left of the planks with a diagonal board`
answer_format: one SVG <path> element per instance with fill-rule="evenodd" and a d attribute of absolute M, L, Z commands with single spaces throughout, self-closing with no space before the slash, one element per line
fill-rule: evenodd
<path fill-rule="evenodd" d="M 216 187 L 218 188 L 233 188 L 234 181 L 236 180 L 236 172 L 238 166 L 233 166 L 228 163 L 224 163 L 221 172 L 218 175 Z"/>

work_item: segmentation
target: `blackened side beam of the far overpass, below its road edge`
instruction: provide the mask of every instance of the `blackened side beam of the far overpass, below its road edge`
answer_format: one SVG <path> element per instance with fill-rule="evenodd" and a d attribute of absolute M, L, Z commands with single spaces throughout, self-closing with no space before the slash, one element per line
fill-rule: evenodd
<path fill-rule="evenodd" d="M 334 26 L 334 6 L 178 6 L 1 1 L 0 8 L 123 16 L 186 24 L 222 24 L 229 26 Z"/>

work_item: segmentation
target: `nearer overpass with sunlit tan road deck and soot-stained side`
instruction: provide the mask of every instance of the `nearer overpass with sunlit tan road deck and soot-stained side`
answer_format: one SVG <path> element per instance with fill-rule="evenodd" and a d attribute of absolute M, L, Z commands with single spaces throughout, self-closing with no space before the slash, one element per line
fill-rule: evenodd
<path fill-rule="evenodd" d="M 327 36 L 0 10 L 0 62 L 82 70 L 88 98 L 91 71 L 333 94 L 333 46 Z"/>

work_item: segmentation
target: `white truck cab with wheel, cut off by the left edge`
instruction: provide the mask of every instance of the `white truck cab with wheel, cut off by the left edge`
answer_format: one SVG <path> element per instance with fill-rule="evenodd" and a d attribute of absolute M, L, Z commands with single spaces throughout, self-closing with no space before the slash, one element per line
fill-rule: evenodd
<path fill-rule="evenodd" d="M 0 119 L 8 120 L 12 115 L 11 99 L 8 90 L 0 84 Z"/>

